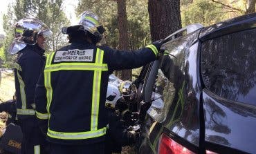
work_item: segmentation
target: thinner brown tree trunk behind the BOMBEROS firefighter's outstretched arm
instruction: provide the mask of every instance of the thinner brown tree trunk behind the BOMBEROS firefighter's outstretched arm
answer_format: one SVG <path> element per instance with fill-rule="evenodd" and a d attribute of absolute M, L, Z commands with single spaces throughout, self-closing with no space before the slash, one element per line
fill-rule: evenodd
<path fill-rule="evenodd" d="M 128 50 L 128 22 L 126 13 L 126 0 L 119 0 L 118 3 L 118 30 L 119 49 Z M 122 80 L 131 80 L 131 70 L 122 70 Z"/>

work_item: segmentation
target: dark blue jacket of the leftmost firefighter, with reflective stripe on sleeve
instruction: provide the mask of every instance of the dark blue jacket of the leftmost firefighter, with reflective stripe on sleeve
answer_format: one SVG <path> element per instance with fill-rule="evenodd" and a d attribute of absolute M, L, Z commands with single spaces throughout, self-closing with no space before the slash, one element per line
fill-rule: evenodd
<path fill-rule="evenodd" d="M 37 45 L 27 45 L 18 52 L 15 63 L 18 118 L 35 116 L 35 87 L 44 61 L 44 50 Z"/>

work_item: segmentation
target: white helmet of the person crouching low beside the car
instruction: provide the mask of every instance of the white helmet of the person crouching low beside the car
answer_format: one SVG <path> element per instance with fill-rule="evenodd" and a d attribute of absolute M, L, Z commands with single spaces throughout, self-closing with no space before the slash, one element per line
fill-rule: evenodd
<path fill-rule="evenodd" d="M 107 96 L 106 96 L 106 106 L 110 108 L 115 108 L 116 102 L 122 97 L 118 87 L 114 84 L 108 84 L 107 86 Z"/>

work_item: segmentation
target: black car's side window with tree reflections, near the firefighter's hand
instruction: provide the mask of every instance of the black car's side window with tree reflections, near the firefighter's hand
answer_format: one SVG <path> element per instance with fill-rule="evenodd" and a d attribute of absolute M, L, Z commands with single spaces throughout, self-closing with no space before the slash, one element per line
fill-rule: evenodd
<path fill-rule="evenodd" d="M 165 56 L 162 59 L 161 66 L 158 69 L 154 91 L 163 96 L 164 108 L 163 116 L 170 111 L 169 108 L 174 102 L 177 90 L 184 87 L 185 84 L 185 53 L 198 32 L 181 37 L 165 44 Z M 176 100 L 177 102 L 177 100 Z M 165 118 L 163 118 L 165 119 Z"/>

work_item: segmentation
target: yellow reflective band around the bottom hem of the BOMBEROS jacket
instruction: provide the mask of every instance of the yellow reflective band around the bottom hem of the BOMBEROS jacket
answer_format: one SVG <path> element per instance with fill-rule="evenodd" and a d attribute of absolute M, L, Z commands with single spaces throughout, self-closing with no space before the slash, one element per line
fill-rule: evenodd
<path fill-rule="evenodd" d="M 51 131 L 48 128 L 47 135 L 49 137 L 57 138 L 57 139 L 89 139 L 94 137 L 100 137 L 106 134 L 106 127 L 98 129 L 96 131 L 86 131 L 79 133 L 64 133 L 64 132 L 56 132 Z"/>

